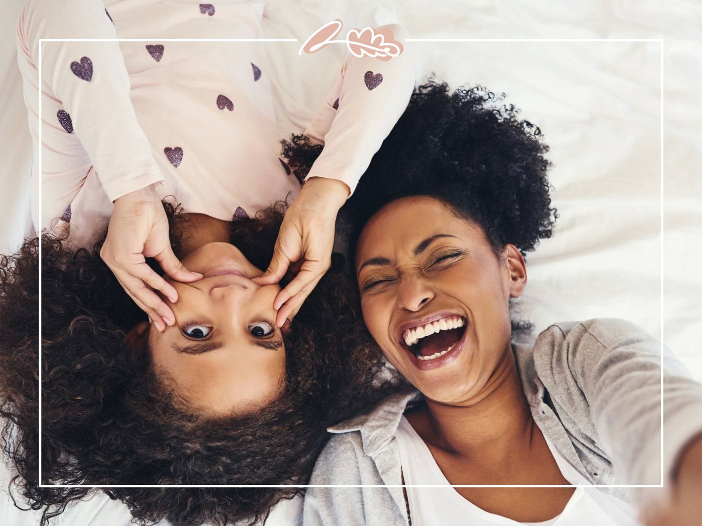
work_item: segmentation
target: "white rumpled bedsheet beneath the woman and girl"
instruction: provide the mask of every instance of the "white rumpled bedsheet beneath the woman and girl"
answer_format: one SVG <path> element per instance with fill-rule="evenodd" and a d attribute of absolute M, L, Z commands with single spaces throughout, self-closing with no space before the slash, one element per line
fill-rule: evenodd
<path fill-rule="evenodd" d="M 31 142 L 14 68 L 14 23 L 22 2 L 0 16 L 0 249 L 29 234 Z M 665 39 L 665 173 L 661 274 L 661 46 L 657 42 L 408 43 L 420 76 L 435 72 L 451 87 L 482 83 L 505 92 L 550 144 L 555 237 L 527 257 L 522 317 L 536 332 L 554 321 L 627 318 L 661 338 L 702 380 L 702 8 L 689 1 L 268 0 L 266 36 L 298 43 L 267 46 L 279 131 L 300 131 L 321 104 L 344 46 L 297 56 L 303 41 L 334 18 L 345 29 L 402 23 L 413 38 Z M 235 45 L 235 44 L 232 44 Z M 661 276 L 665 293 L 661 332 Z M 7 473 L 1 473 L 6 477 Z M 0 483 L 3 480 L 0 477 Z M 2 487 L 0 487 L 0 492 Z M 99 519 L 94 515 L 102 513 Z M 290 522 L 293 508 L 269 520 Z M 37 515 L 1 500 L 7 524 Z M 91 518 L 92 517 L 92 518 Z M 108 519 L 107 517 L 110 517 Z M 69 511 L 60 524 L 121 526 L 119 503 L 104 496 Z"/>

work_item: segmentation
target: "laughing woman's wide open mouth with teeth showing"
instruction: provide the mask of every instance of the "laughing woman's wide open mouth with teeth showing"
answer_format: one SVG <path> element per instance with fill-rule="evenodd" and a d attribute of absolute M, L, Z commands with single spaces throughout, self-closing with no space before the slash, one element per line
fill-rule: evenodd
<path fill-rule="evenodd" d="M 451 314 L 402 332 L 400 346 L 422 370 L 435 369 L 455 358 L 463 348 L 468 320 Z"/>

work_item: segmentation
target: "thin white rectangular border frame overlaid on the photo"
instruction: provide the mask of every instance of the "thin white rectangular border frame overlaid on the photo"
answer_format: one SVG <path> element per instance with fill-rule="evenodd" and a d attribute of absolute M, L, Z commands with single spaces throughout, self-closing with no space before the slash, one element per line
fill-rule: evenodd
<path fill-rule="evenodd" d="M 44 42 L 297 42 L 298 39 L 39 39 L 39 215 L 41 217 L 41 48 Z M 658 42 L 661 46 L 661 483 L 660 484 L 42 484 L 41 483 L 41 241 L 39 242 L 39 487 L 663 487 L 663 39 L 405 39 L 406 42 Z"/>

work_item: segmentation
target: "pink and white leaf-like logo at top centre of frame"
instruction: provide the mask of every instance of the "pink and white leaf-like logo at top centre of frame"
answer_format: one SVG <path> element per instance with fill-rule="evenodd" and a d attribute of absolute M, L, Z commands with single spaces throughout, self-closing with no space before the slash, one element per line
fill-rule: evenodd
<path fill-rule="evenodd" d="M 298 55 L 302 55 L 303 51 L 315 53 L 329 43 L 345 43 L 351 54 L 358 58 L 368 55 L 378 60 L 390 60 L 402 53 L 402 44 L 395 41 L 391 29 L 349 29 L 346 40 L 334 40 L 342 26 L 343 23 L 338 18 L 323 25 L 305 40 Z"/>

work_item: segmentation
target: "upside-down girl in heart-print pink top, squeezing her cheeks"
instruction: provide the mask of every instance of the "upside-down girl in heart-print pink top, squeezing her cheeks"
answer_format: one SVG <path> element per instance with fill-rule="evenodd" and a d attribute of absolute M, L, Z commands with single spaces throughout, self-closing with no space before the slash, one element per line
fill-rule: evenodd
<path fill-rule="evenodd" d="M 276 318 L 280 285 L 256 278 L 286 220 L 288 231 L 301 225 L 305 238 L 322 238 L 320 269 L 332 264 L 338 208 L 409 100 L 411 54 L 345 60 L 307 127 L 326 147 L 301 189 L 304 178 L 279 159 L 273 75 L 260 46 L 158 40 L 260 36 L 256 6 L 107 4 L 29 0 L 18 24 L 29 126 L 42 152 L 42 172 L 34 163 L 32 175 L 43 191 L 37 230 L 50 234 L 28 239 L 0 267 L 8 324 L 0 416 L 15 482 L 45 520 L 91 490 L 39 483 L 304 483 L 326 426 L 376 399 L 371 379 L 383 365 L 348 303 L 357 300 L 340 262 L 292 326 Z M 157 40 L 52 41 L 39 52 L 40 38 L 145 34 Z M 174 203 L 162 204 L 169 195 Z M 291 196 L 289 208 L 269 207 Z M 139 276 L 112 274 L 125 255 L 138 255 Z M 157 260 L 145 262 L 149 255 Z M 178 526 L 261 518 L 300 490 L 105 492 L 143 524 Z"/>

